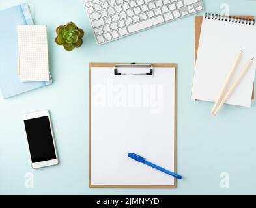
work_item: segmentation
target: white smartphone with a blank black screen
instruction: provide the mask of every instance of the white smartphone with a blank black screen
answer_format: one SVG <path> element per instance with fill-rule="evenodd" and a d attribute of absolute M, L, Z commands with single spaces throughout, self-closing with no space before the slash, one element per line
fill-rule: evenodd
<path fill-rule="evenodd" d="M 23 115 L 32 168 L 59 163 L 51 127 L 50 112 L 41 110 Z"/>

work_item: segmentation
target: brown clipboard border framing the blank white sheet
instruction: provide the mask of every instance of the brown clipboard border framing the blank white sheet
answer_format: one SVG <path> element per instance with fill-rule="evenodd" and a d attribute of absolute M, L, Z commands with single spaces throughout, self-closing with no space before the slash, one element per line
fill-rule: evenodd
<path fill-rule="evenodd" d="M 91 68 L 114 67 L 115 63 L 89 63 L 89 188 L 177 188 L 177 179 L 174 185 L 92 185 L 91 184 Z M 175 138 L 174 138 L 174 170 L 177 172 L 177 68 L 178 64 L 152 64 L 154 67 L 175 68 Z"/>

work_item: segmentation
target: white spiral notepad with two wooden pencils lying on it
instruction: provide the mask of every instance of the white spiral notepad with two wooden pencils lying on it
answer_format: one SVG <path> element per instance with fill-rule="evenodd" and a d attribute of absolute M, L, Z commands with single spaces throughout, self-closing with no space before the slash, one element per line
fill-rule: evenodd
<path fill-rule="evenodd" d="M 195 65 L 192 99 L 215 101 L 240 49 L 244 49 L 244 53 L 233 79 L 251 57 L 256 57 L 255 37 L 255 21 L 205 14 Z M 245 107 L 251 105 L 255 68 L 256 62 L 253 62 L 253 66 L 226 103 Z"/>

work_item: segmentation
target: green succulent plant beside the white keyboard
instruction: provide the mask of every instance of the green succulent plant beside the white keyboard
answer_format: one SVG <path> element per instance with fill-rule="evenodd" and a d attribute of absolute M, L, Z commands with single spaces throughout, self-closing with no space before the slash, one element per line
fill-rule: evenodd
<path fill-rule="evenodd" d="M 56 32 L 55 42 L 62 45 L 66 51 L 72 51 L 83 44 L 82 38 L 85 33 L 72 22 L 57 27 Z"/>

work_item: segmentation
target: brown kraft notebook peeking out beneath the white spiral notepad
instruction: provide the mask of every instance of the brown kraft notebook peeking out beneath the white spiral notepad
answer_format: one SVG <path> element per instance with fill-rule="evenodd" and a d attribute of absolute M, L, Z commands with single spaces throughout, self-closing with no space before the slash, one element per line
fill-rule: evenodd
<path fill-rule="evenodd" d="M 243 18 L 243 19 L 254 19 L 254 16 L 231 16 L 234 18 Z M 197 52 L 199 47 L 199 40 L 201 34 L 201 27 L 202 27 L 203 16 L 195 16 L 195 63 L 197 62 Z M 254 85 L 253 85 L 253 92 L 251 94 L 251 99 L 254 99 Z"/>

